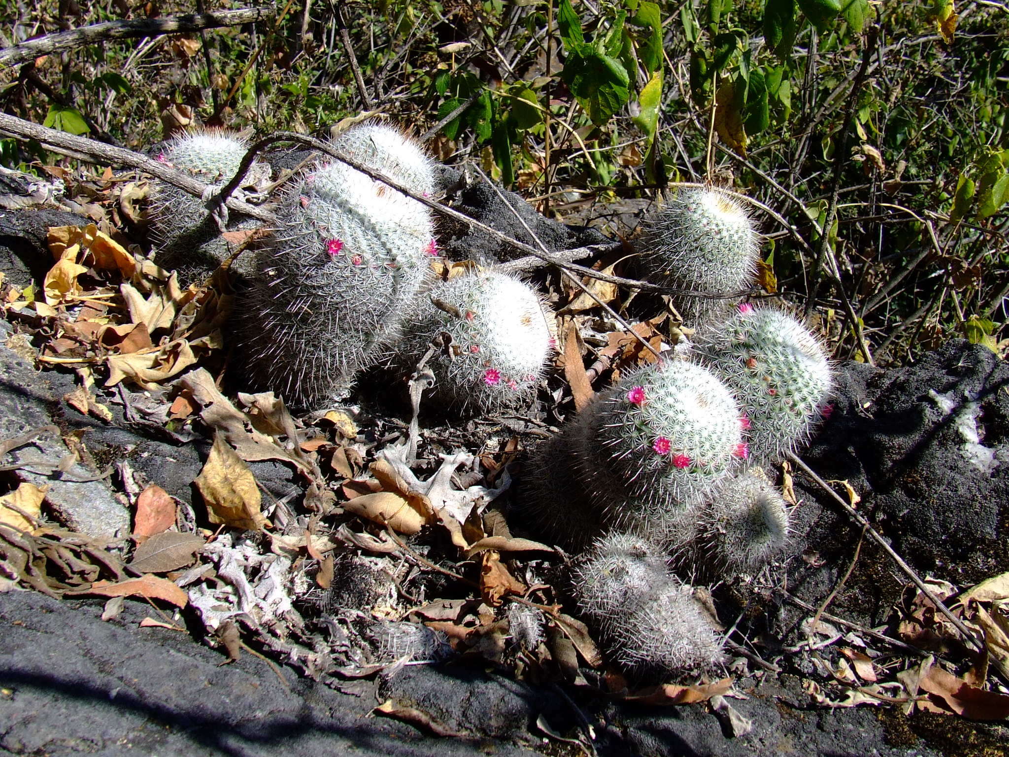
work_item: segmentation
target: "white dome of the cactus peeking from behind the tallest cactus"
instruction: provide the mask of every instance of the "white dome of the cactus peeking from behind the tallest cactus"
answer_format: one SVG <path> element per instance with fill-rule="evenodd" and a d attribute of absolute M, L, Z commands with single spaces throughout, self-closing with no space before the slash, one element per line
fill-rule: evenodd
<path fill-rule="evenodd" d="M 435 161 L 399 129 L 367 122 L 354 126 L 332 141 L 337 151 L 365 168 L 384 174 L 419 195 L 429 197 L 437 188 Z"/>

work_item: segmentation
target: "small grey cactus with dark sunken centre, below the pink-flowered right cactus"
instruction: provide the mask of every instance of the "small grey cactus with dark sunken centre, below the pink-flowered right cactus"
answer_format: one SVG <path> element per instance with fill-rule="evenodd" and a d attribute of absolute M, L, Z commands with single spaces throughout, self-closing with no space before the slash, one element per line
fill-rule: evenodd
<path fill-rule="evenodd" d="M 788 543 L 785 501 L 758 467 L 723 480 L 699 520 L 694 557 L 712 575 L 759 570 Z"/>

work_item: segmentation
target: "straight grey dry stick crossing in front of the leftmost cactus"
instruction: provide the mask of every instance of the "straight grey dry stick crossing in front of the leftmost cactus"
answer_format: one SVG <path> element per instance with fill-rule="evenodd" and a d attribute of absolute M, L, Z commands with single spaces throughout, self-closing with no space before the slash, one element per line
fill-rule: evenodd
<path fill-rule="evenodd" d="M 134 152 L 123 147 L 114 147 L 111 144 L 104 144 L 88 137 L 68 134 L 66 131 L 49 129 L 45 126 L 39 126 L 37 123 L 31 123 L 30 121 L 7 115 L 6 113 L 0 113 L 0 131 L 10 134 L 17 139 L 35 139 L 49 149 L 54 151 L 71 151 L 75 153 L 74 156 L 83 155 L 86 159 L 93 163 L 114 164 L 139 169 L 196 197 L 203 197 L 203 193 L 207 190 L 206 184 L 198 182 L 187 174 L 169 168 L 163 163 L 152 160 L 139 152 Z M 269 211 L 249 205 L 235 198 L 228 198 L 226 205 L 237 213 L 243 213 L 265 223 L 272 223 L 275 220 L 273 214 Z"/>

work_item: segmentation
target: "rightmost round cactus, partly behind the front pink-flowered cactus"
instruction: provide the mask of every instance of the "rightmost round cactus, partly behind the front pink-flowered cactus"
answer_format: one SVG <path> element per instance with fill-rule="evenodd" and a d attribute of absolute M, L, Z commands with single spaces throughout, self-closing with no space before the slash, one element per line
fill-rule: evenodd
<path fill-rule="evenodd" d="M 741 305 L 726 323 L 698 334 L 695 350 L 743 406 L 756 461 L 779 460 L 805 442 L 832 380 L 823 345 L 801 323 L 781 310 Z"/>

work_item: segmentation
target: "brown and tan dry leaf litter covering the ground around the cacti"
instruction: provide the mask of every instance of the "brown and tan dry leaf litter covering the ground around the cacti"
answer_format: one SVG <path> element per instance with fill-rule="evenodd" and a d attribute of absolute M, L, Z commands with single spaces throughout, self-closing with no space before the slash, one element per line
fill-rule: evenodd
<path fill-rule="evenodd" d="M 119 187 L 116 213 L 138 217 L 143 194 L 135 184 Z M 741 695 L 733 677 L 641 688 L 608 667 L 591 630 L 563 612 L 565 588 L 556 580 L 563 553 L 513 537 L 493 507 L 511 486 L 524 444 L 542 438 L 544 421 L 559 424 L 584 406 L 603 373 L 615 381 L 654 361 L 652 350 L 674 348 L 684 335 L 677 319 L 661 315 L 633 323 L 629 332 L 580 291 L 562 291 L 568 306 L 558 323 L 565 335 L 558 374 L 567 381 L 551 380 L 552 403 L 540 419 L 491 419 L 491 427 L 519 432 L 501 439 L 486 438 L 486 421 L 408 438 L 400 422 L 358 408 L 313 420 L 293 417 L 270 393 L 226 397 L 218 379 L 232 295 L 223 274 L 182 289 L 174 273 L 116 237 L 107 223 L 50 229 L 53 264 L 41 292 L 0 282 L 0 306 L 19 333 L 33 338 L 32 359 L 77 371 L 80 386 L 65 399 L 82 415 L 111 422 L 108 404 L 117 403 L 110 391 L 123 385 L 127 396 L 140 397 L 139 390 L 161 404 L 155 415 L 167 433 L 187 442 L 212 439 L 194 480 L 206 513 L 187 525 L 177 502 L 150 483 L 130 498 L 131 539 L 101 544 L 51 527 L 44 491 L 21 483 L 0 497 L 0 589 L 21 584 L 55 597 L 107 597 L 110 619 L 121 607 L 112 604 L 127 597 L 180 608 L 200 620 L 228 661 L 247 648 L 245 641 L 255 641 L 268 657 L 330 685 L 455 655 L 627 701 L 710 701 L 737 735 L 752 727 L 725 698 Z M 444 276 L 469 265 L 454 263 Z M 615 290 L 589 284 L 600 300 L 615 303 Z M 486 452 L 497 443 L 501 453 Z M 422 452 L 416 460 L 412 446 Z M 264 501 L 247 465 L 261 460 L 298 473 L 300 503 Z M 362 590 L 356 606 L 333 606 L 328 598 L 347 580 L 341 570 L 348 557 L 381 574 L 376 585 L 385 579 L 387 585 Z M 1007 576 L 966 591 L 935 585 L 985 640 L 984 659 L 972 660 L 951 624 L 910 591 L 895 609 L 896 634 L 950 662 L 890 654 L 881 666 L 881 651 L 870 641 L 828 631 L 802 652 L 830 651 L 835 660 L 814 659 L 822 676 L 805 678 L 810 699 L 831 708 L 892 705 L 905 713 L 1006 719 L 1009 692 L 999 690 L 988 667 L 1009 666 Z M 439 585 L 465 597 L 439 598 Z M 514 639 L 516 607 L 539 624 L 541 641 L 532 649 Z M 153 618 L 140 625 L 184 631 Z M 374 712 L 435 734 L 467 736 L 391 700 Z"/>

